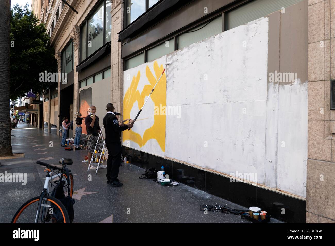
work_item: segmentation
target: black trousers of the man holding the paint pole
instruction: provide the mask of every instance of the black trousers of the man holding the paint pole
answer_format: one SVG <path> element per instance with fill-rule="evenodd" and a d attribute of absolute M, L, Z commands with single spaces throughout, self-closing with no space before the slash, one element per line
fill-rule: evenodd
<path fill-rule="evenodd" d="M 107 179 L 114 181 L 118 178 L 121 162 L 122 147 L 120 142 L 106 143 L 108 149 Z"/>

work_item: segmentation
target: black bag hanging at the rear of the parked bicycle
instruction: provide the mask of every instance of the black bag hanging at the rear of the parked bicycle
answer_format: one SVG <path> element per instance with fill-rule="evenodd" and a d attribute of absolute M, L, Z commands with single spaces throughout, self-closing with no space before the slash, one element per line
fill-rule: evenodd
<path fill-rule="evenodd" d="M 67 176 L 67 183 L 69 184 L 69 171 L 67 168 L 64 168 L 66 170 L 66 176 Z M 64 194 L 64 183 L 65 181 L 59 181 L 58 184 L 56 185 L 56 187 L 52 190 L 51 196 L 57 198 L 58 200 L 60 200 L 64 207 L 67 210 L 67 213 L 69 214 L 69 218 L 70 218 L 70 223 L 72 223 L 73 219 L 74 219 L 74 210 L 73 210 L 73 204 L 75 203 L 75 200 L 73 198 L 71 198 L 70 195 L 70 187 L 69 185 L 67 186 L 68 188 L 68 195 L 65 197 Z"/>

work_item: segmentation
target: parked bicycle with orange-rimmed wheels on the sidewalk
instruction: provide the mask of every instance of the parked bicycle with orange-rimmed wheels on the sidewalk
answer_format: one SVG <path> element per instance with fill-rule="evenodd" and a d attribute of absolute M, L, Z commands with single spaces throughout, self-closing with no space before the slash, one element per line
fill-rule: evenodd
<path fill-rule="evenodd" d="M 17 210 L 11 223 L 70 223 L 65 206 L 59 199 L 51 196 L 51 193 L 53 190 L 52 181 L 58 177 L 59 179 L 55 180 L 54 183 L 63 182 L 64 195 L 67 196 L 70 193 L 72 198 L 73 175 L 70 173 L 71 170 L 67 169 L 67 166 L 72 165 L 73 161 L 61 158 L 59 160 L 61 167 L 41 161 L 37 161 L 36 163 L 45 166 L 46 169 L 44 171 L 48 171 L 43 191 L 40 196 L 26 201 Z M 56 175 L 52 176 L 53 173 L 56 173 Z M 49 189 L 49 182 L 51 183 L 51 190 Z"/>

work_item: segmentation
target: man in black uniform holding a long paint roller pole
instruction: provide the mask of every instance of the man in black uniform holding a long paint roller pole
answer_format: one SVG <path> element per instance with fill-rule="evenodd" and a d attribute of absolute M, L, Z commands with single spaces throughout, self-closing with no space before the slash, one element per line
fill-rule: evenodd
<path fill-rule="evenodd" d="M 133 127 L 133 122 L 125 126 L 119 126 L 119 121 L 114 114 L 114 106 L 108 103 L 106 106 L 107 114 L 103 119 L 106 131 L 106 147 L 108 149 L 107 160 L 107 183 L 110 186 L 122 186 L 118 179 L 122 147 L 120 143 L 120 133 Z"/>

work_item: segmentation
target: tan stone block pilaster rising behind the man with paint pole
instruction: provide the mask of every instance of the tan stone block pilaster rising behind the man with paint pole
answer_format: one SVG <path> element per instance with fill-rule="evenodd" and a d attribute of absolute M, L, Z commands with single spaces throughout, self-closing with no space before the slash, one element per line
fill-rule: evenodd
<path fill-rule="evenodd" d="M 118 32 L 123 29 L 123 0 L 112 0 L 111 102 L 123 117 L 123 60 Z"/>

